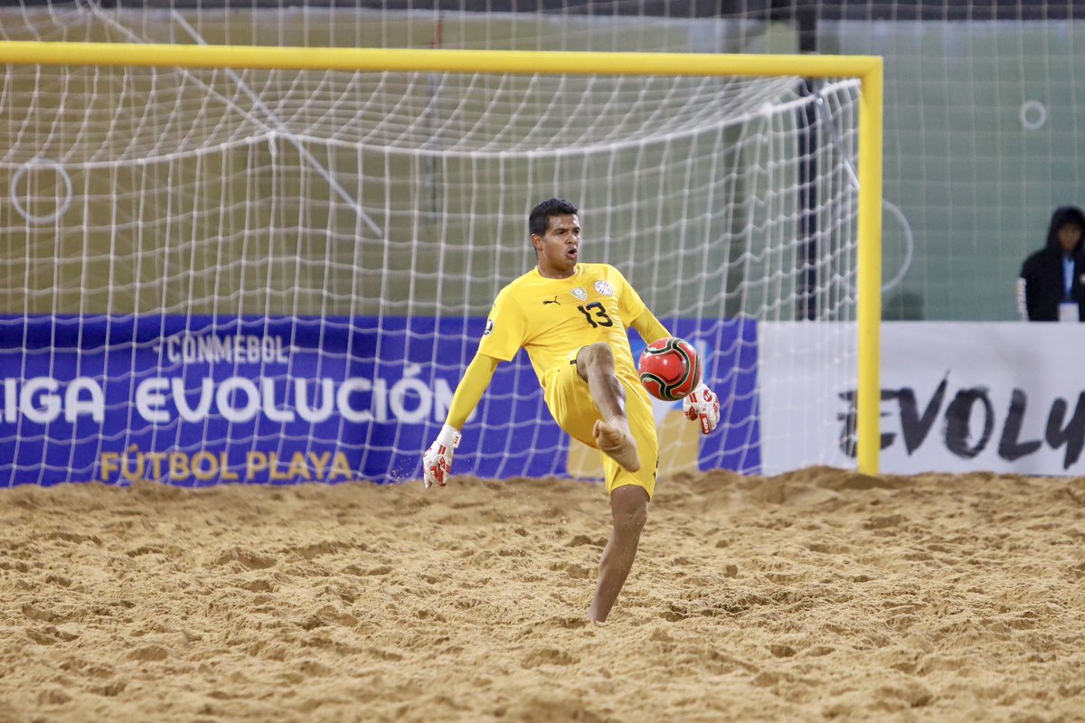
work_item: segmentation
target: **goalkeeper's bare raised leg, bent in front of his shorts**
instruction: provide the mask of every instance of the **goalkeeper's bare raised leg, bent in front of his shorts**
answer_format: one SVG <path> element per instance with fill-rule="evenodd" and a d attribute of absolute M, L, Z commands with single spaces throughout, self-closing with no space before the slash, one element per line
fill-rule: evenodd
<path fill-rule="evenodd" d="M 588 383 L 603 421 L 596 422 L 596 444 L 629 472 L 640 469 L 637 442 L 625 415 L 625 390 L 614 376 L 614 352 L 605 343 L 590 344 L 576 354 L 576 373 Z"/>

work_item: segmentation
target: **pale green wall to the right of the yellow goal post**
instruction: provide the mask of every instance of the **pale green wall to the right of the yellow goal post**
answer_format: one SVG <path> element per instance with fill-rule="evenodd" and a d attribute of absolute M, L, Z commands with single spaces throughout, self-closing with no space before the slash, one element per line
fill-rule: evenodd
<path fill-rule="evenodd" d="M 884 198 L 907 219 L 914 258 L 886 319 L 1017 318 L 1014 281 L 1051 211 L 1085 205 L 1085 27 L 895 23 L 824 28 L 829 48 L 885 57 Z M 1030 129 L 1022 105 L 1042 104 Z M 1032 125 L 1042 116 L 1026 113 Z M 885 214 L 883 273 L 906 233 Z"/>

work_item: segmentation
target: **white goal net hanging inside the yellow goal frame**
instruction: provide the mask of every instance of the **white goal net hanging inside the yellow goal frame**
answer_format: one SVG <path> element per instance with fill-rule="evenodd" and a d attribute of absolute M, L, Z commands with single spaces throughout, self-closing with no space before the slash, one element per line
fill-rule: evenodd
<path fill-rule="evenodd" d="M 550 196 L 727 400 L 704 438 L 659 403 L 661 470 L 760 473 L 771 418 L 824 425 L 814 406 L 855 388 L 858 96 L 847 77 L 10 63 L 0 485 L 419 477 Z M 808 344 L 773 344 L 787 324 Z M 839 424 L 818 454 L 850 464 Z M 521 354 L 455 473 L 593 477 L 593 455 Z"/>

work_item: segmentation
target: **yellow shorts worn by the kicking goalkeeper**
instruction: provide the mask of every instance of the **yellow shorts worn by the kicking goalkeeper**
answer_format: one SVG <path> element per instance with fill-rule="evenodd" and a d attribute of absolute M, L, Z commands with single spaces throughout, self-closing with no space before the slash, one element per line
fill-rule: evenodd
<path fill-rule="evenodd" d="M 576 372 L 576 352 L 570 354 L 569 364 L 551 369 L 542 376 L 544 397 L 558 425 L 570 437 L 596 447 L 596 438 L 591 434 L 596 421 L 602 419 L 598 408 L 591 401 L 588 383 Z M 603 462 L 603 473 L 607 479 L 608 494 L 618 487 L 636 485 L 644 488 L 651 499 L 655 491 L 655 478 L 660 467 L 660 441 L 655 434 L 655 417 L 652 416 L 652 402 L 648 392 L 640 384 L 633 385 L 621 376 L 618 380 L 625 388 L 625 413 L 629 419 L 629 429 L 637 442 L 637 453 L 640 456 L 640 469 L 627 472 L 609 455 L 600 452 Z M 598 448 L 597 448 L 598 449 Z"/>

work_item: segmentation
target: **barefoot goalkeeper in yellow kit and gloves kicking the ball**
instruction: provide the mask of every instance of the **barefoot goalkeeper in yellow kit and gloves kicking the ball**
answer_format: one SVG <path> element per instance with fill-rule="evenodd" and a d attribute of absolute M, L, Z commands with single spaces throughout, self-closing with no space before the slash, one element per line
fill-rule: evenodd
<path fill-rule="evenodd" d="M 588 618 L 602 622 L 633 567 L 659 469 L 655 421 L 627 328 L 637 330 L 647 343 L 671 334 L 617 269 L 579 262 L 577 214 L 576 206 L 561 198 L 544 201 L 532 210 L 528 229 L 538 263 L 497 295 L 445 426 L 422 455 L 423 481 L 426 488 L 445 486 L 459 430 L 498 363 L 526 349 L 558 425 L 603 453 L 613 530 L 588 608 Z M 690 419 L 700 422 L 703 434 L 719 421 L 719 400 L 703 383 L 682 406 Z"/>

